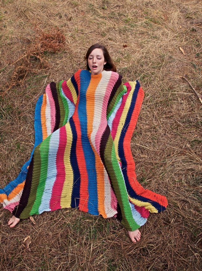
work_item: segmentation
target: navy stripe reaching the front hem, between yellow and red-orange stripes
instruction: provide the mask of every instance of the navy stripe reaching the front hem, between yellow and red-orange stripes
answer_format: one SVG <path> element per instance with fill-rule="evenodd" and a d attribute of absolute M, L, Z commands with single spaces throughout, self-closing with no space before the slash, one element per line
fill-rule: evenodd
<path fill-rule="evenodd" d="M 71 196 L 71 207 L 78 208 L 79 207 L 79 199 L 80 199 L 80 171 L 76 159 L 76 142 L 77 142 L 77 133 L 75 124 L 72 118 L 69 120 L 69 124 L 71 127 L 72 132 L 72 144 L 71 144 L 71 152 L 70 152 L 70 163 L 74 173 L 74 180 L 73 180 L 73 189 L 72 189 L 72 196 Z"/>

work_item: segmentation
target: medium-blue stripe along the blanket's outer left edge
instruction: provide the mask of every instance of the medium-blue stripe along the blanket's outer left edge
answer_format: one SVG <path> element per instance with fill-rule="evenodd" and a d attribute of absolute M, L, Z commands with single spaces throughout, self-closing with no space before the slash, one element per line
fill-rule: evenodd
<path fill-rule="evenodd" d="M 42 103 L 43 103 L 43 95 L 41 95 L 39 97 L 37 104 L 36 104 L 36 109 L 35 109 L 35 118 L 34 118 L 35 144 L 34 144 L 33 151 L 31 153 L 31 157 L 22 166 L 21 172 L 19 173 L 18 177 L 15 180 L 9 182 L 9 184 L 5 188 L 0 189 L 0 194 L 6 194 L 8 196 L 15 189 L 15 187 L 18 186 L 20 183 L 22 183 L 27 177 L 27 172 L 28 172 L 27 167 L 29 166 L 29 164 L 31 162 L 32 155 L 34 153 L 34 149 L 43 140 L 42 128 L 41 128 L 41 105 L 42 105 Z"/>

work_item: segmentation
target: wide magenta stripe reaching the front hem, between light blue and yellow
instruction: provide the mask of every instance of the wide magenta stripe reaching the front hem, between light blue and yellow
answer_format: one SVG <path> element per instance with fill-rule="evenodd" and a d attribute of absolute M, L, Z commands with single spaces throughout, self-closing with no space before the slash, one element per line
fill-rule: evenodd
<path fill-rule="evenodd" d="M 65 126 L 60 128 L 60 138 L 58 152 L 56 155 L 56 168 L 57 175 L 56 180 L 53 185 L 52 196 L 50 199 L 50 209 L 51 211 L 61 209 L 60 199 L 62 194 L 62 189 L 65 181 L 65 166 L 64 166 L 64 152 L 67 144 L 67 133 Z"/>

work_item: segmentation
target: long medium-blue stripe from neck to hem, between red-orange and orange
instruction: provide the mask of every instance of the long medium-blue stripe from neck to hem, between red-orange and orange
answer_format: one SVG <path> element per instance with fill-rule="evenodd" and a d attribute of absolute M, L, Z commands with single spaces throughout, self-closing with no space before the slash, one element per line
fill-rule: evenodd
<path fill-rule="evenodd" d="M 97 173 L 95 171 L 95 154 L 88 138 L 87 128 L 87 112 L 86 112 L 86 91 L 88 89 L 91 73 L 88 71 L 81 71 L 80 80 L 82 82 L 80 87 L 80 100 L 78 106 L 78 116 L 81 127 L 81 141 L 84 150 L 84 157 L 86 169 L 88 173 L 88 212 L 92 215 L 99 215 L 98 200 L 97 200 Z"/>

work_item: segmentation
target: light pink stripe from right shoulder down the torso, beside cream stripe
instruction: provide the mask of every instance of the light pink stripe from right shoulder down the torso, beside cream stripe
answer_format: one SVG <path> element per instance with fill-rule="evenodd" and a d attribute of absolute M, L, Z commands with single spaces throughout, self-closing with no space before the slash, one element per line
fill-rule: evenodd
<path fill-rule="evenodd" d="M 110 97 L 110 90 L 112 88 L 112 85 L 114 84 L 114 79 L 116 79 L 116 81 L 117 81 L 118 73 L 116 74 L 116 77 L 112 73 L 111 76 L 110 76 L 109 82 L 107 84 L 105 96 L 103 98 L 102 112 L 101 112 L 101 117 L 100 117 L 100 126 L 99 126 L 99 128 L 97 130 L 97 133 L 96 133 L 96 136 L 95 136 L 96 150 L 97 150 L 99 155 L 100 155 L 101 137 L 102 137 L 102 134 L 104 133 L 104 131 L 106 129 L 106 125 L 105 125 L 105 123 L 103 123 L 102 120 L 104 120 L 106 118 L 107 104 L 108 104 L 108 100 L 109 100 L 109 97 Z"/>

